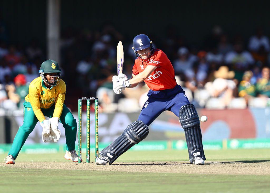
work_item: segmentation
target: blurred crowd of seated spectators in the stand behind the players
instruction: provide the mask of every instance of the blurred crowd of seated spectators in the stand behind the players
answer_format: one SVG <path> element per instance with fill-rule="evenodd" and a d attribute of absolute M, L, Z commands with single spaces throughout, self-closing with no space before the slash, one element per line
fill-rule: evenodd
<path fill-rule="evenodd" d="M 0 31 L 0 109 L 16 110 L 22 108 L 29 83 L 39 76 L 39 67 L 48 58 L 38 39 L 22 46 L 9 43 L 4 33 Z M 168 26 L 163 37 L 146 35 L 155 48 L 166 53 L 177 83 L 197 107 L 224 109 L 270 104 L 270 45 L 262 28 L 244 39 L 215 26 L 201 45 L 186 43 L 174 26 Z M 98 97 L 104 112 L 141 109 L 149 90 L 144 83 L 125 89 L 120 95 L 112 90 L 120 40 L 125 54 L 123 73 L 131 77 L 136 59 L 131 49 L 133 37 L 121 34 L 111 24 L 104 24 L 97 31 L 62 31 L 59 64 L 67 85 L 65 104 L 69 108 L 76 111 L 79 97 Z"/>

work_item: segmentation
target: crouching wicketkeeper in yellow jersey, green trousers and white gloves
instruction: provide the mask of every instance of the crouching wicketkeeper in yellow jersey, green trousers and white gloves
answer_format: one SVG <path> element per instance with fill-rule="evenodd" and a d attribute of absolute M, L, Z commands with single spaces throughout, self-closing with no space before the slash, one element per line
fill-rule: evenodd
<path fill-rule="evenodd" d="M 23 144 L 39 121 L 43 128 L 42 141 L 57 142 L 60 138 L 58 122 L 63 124 L 66 134 L 66 154 L 64 158 L 78 162 L 75 151 L 77 123 L 72 113 L 64 104 L 66 84 L 61 79 L 61 70 L 56 61 L 46 60 L 40 66 L 40 77 L 29 85 L 29 94 L 23 103 L 23 124 L 14 138 L 6 164 L 15 164 Z M 48 117 L 48 119 L 45 118 Z"/>

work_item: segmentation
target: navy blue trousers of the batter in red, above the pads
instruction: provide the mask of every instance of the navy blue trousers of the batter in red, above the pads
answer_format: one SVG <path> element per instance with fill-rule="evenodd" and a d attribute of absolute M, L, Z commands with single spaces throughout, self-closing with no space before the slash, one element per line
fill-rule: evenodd
<path fill-rule="evenodd" d="M 150 90 L 147 94 L 148 100 L 144 103 L 138 121 L 144 122 L 147 126 L 153 122 L 163 111 L 171 111 L 179 117 L 180 108 L 189 104 L 185 91 L 181 86 L 163 91 Z"/>

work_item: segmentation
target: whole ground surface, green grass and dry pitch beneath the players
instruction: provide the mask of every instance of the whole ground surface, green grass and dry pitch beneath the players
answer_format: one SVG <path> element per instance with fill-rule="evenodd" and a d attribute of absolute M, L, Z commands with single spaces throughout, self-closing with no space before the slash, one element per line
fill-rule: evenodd
<path fill-rule="evenodd" d="M 127 168 L 121 164 L 95 166 L 92 163 L 90 169 L 83 169 L 88 165 L 69 163 L 63 159 L 64 153 L 19 154 L 17 164 L 0 165 L 0 190 L 1 192 L 270 192 L 270 170 L 267 172 L 268 175 L 261 175 L 259 172 L 256 172 L 256 175 L 242 173 L 254 166 L 261 168 L 265 174 L 265 168 L 267 170 L 270 165 L 269 151 L 269 149 L 208 150 L 205 151 L 207 162 L 203 166 L 188 164 L 187 151 L 128 151 L 117 159 L 117 162 L 127 162 L 129 171 L 123 171 L 123 168 Z M 0 154 L 0 160 L 4 160 L 5 157 L 6 154 Z M 166 169 L 155 172 L 160 165 L 147 165 L 147 162 L 168 161 L 183 163 L 161 165 L 162 168 L 168 169 L 176 166 L 175 168 L 179 170 L 176 172 L 167 172 Z M 30 162 L 30 165 L 31 162 L 43 162 L 44 167 L 25 166 L 25 168 L 24 162 Z M 129 164 L 130 162 L 142 164 Z M 223 163 L 211 164 L 213 162 Z M 230 162 L 241 163 L 230 164 Z M 54 164 L 63 167 L 45 169 L 46 164 L 48 167 Z M 77 169 L 70 169 L 70 166 Z M 115 169 L 112 170 L 112 167 Z M 149 172 L 146 167 L 152 168 L 153 171 Z M 218 170 L 224 174 L 218 174 Z"/>

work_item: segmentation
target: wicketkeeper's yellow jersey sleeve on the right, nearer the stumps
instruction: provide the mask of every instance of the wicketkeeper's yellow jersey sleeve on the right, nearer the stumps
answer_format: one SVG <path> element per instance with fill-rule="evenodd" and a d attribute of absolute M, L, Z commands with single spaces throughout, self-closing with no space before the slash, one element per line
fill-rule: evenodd
<path fill-rule="evenodd" d="M 66 84 L 64 81 L 60 84 L 58 95 L 55 99 L 55 109 L 53 111 L 53 117 L 58 117 L 60 119 L 60 116 L 63 111 L 63 105 L 65 101 L 65 95 L 66 95 Z"/>

